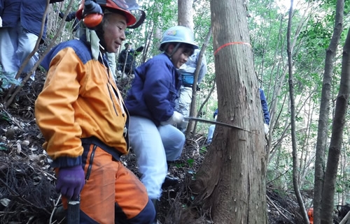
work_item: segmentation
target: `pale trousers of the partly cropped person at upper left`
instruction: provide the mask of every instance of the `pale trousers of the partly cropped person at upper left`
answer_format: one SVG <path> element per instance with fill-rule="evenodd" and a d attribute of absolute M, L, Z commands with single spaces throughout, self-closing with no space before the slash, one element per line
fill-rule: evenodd
<path fill-rule="evenodd" d="M 15 77 L 28 54 L 34 50 L 37 40 L 38 36 L 23 29 L 20 22 L 17 27 L 0 29 L 0 64 L 6 77 Z M 36 61 L 38 52 L 31 57 L 23 73 L 28 73 Z M 31 79 L 34 79 L 34 74 Z"/>

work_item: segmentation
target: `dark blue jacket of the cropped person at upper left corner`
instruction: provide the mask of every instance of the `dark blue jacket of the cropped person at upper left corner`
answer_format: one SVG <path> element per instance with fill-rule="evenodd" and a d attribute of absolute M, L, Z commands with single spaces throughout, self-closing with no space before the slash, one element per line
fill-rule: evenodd
<path fill-rule="evenodd" d="M 50 3 L 58 1 L 64 0 L 50 0 Z M 0 17 L 3 27 L 16 27 L 18 22 L 21 22 L 23 28 L 39 36 L 45 7 L 46 0 L 0 0 Z M 42 41 L 46 37 L 46 21 L 47 18 Z"/>

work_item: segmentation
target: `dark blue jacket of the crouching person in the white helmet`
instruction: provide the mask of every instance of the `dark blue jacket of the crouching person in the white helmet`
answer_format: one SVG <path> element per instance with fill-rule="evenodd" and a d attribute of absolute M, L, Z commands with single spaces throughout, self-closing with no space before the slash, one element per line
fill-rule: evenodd
<path fill-rule="evenodd" d="M 130 115 L 151 119 L 156 126 L 174 114 L 181 75 L 166 54 L 158 54 L 135 70 L 125 105 Z"/>

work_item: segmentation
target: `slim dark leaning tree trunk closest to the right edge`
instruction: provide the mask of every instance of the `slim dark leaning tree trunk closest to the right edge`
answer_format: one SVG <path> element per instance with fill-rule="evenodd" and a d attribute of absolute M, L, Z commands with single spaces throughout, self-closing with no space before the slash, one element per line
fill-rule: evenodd
<path fill-rule="evenodd" d="M 339 1 L 338 1 L 339 3 Z M 344 3 L 344 1 L 343 1 Z M 344 6 L 344 5 L 343 5 Z M 350 29 L 346 36 L 343 58 L 340 88 L 335 105 L 335 114 L 330 137 L 327 167 L 325 169 L 325 181 L 323 183 L 321 224 L 332 224 L 335 181 L 339 163 L 340 149 L 342 147 L 345 116 L 350 95 Z"/>

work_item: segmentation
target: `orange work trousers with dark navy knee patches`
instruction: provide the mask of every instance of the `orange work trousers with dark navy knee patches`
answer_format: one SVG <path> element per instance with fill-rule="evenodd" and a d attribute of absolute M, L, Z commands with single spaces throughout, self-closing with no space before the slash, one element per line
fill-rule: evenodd
<path fill-rule="evenodd" d="M 101 147 L 83 147 L 86 183 L 80 193 L 80 223 L 152 223 L 153 202 L 134 173 Z M 66 200 L 62 201 L 66 208 Z"/>

